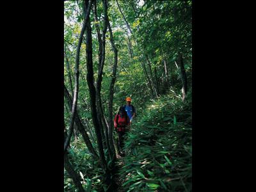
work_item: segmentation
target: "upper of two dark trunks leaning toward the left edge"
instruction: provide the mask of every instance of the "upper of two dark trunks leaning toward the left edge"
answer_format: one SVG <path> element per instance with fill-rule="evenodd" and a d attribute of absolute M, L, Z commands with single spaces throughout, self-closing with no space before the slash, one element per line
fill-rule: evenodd
<path fill-rule="evenodd" d="M 65 84 L 64 84 L 64 96 L 67 99 L 68 107 L 71 110 L 72 109 L 72 100 L 71 100 L 70 94 L 68 93 L 68 90 L 67 90 Z M 79 115 L 78 115 L 77 111 L 75 113 L 75 123 L 76 123 L 77 129 L 81 132 L 81 134 L 83 136 L 84 143 L 86 144 L 86 147 L 88 148 L 89 152 L 93 156 L 99 158 L 99 156 L 97 155 L 96 151 L 94 150 L 94 148 L 92 146 L 90 138 L 89 138 L 88 134 L 85 131 L 85 128 L 84 128 L 84 126 L 81 122 L 81 118 L 79 118 Z"/>

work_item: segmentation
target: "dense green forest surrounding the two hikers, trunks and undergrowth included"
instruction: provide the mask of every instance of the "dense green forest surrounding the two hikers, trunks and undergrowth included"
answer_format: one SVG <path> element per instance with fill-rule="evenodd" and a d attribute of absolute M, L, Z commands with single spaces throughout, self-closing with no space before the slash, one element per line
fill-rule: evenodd
<path fill-rule="evenodd" d="M 64 1 L 63 44 L 64 191 L 192 191 L 192 1 Z"/>

